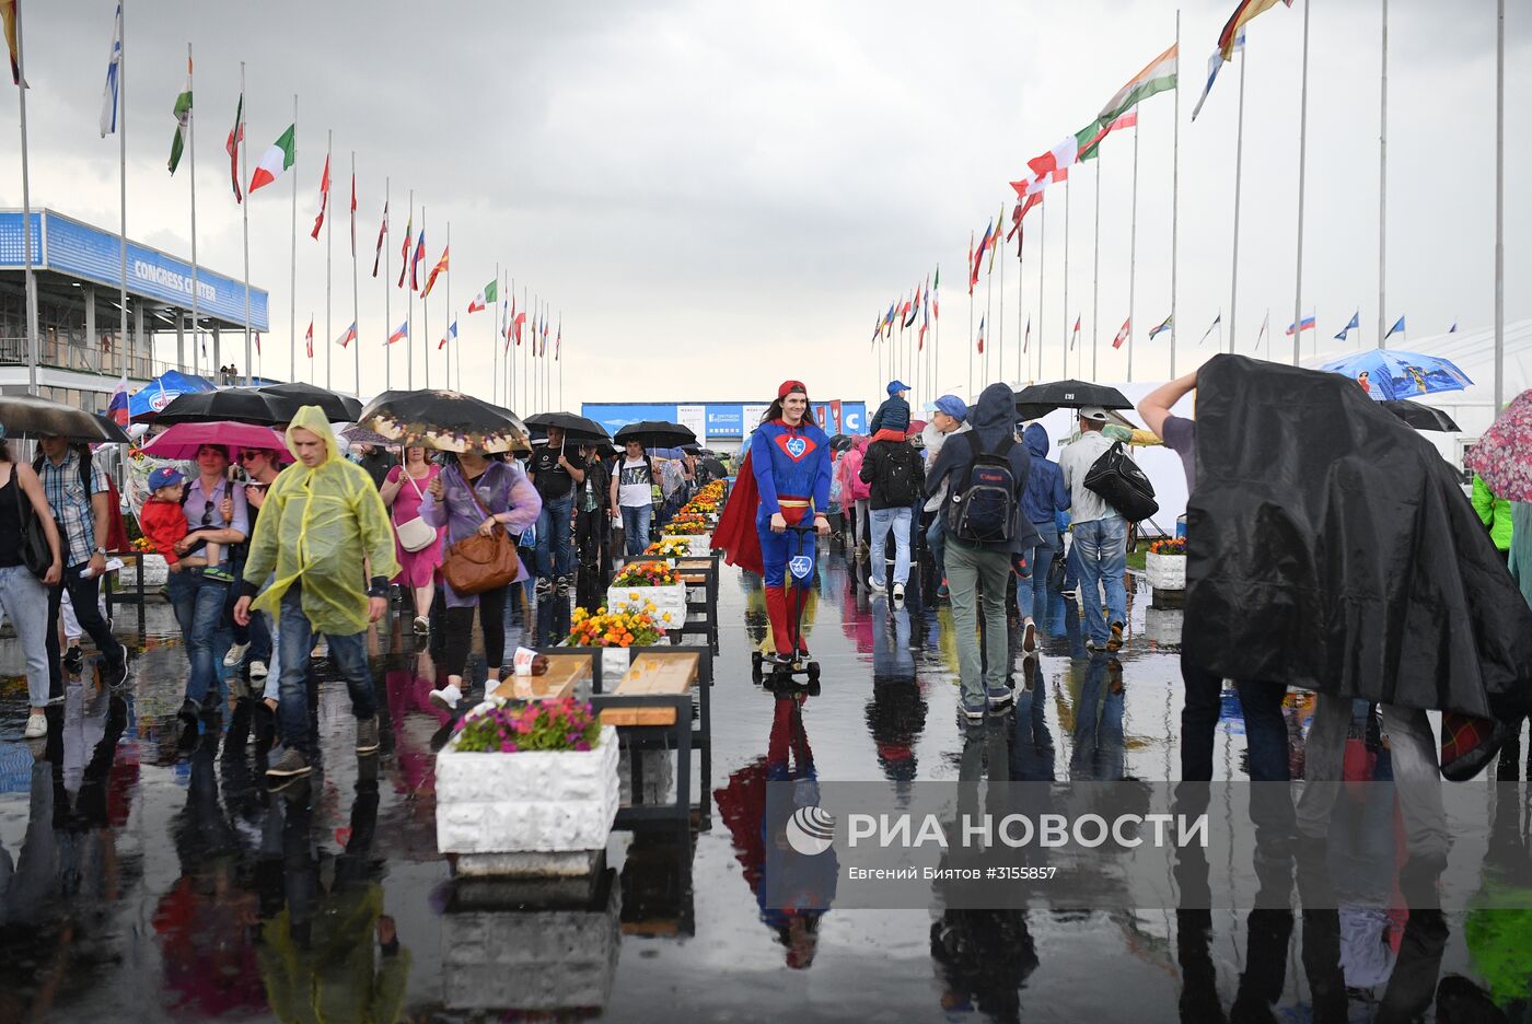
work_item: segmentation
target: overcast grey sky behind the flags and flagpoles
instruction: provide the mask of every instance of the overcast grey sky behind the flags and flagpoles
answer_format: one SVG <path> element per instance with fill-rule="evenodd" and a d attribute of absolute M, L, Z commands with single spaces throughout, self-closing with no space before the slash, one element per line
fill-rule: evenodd
<path fill-rule="evenodd" d="M 1302 3 L 1249 29 L 1238 343 L 1270 335 L 1290 354 L 1298 204 L 1298 84 Z M 110 0 L 26 6 L 34 207 L 103 228 L 118 222 L 116 141 L 97 119 L 112 34 Z M 1198 338 L 1229 321 L 1239 69 L 1229 64 L 1193 124 L 1207 55 L 1233 0 L 1181 9 L 1180 367 L 1213 352 Z M 1532 15 L 1511 3 L 1506 51 L 1506 315 L 1532 315 L 1524 283 L 1532 199 L 1526 103 Z M 1072 3 L 467 3 L 394 0 L 239 5 L 130 0 L 127 8 L 129 234 L 190 256 L 185 165 L 165 174 L 184 81 L 196 47 L 198 251 L 241 276 L 241 219 L 224 139 L 239 61 L 251 165 L 291 119 L 299 93 L 297 334 L 313 314 L 325 334 L 325 245 L 308 237 L 317 211 L 325 130 L 334 129 L 336 297 L 329 337 L 351 321 L 345 242 L 349 155 L 357 153 L 362 266 L 362 389 L 383 387 L 383 277 L 368 277 L 392 179 L 397 260 L 409 190 L 424 204 L 427 263 L 452 223 L 452 311 L 463 383 L 489 396 L 490 314 L 464 312 L 496 260 L 564 317 L 564 398 L 579 401 L 757 399 L 783 377 L 817 398 L 872 396 L 872 321 L 938 263 L 942 268 L 944 390 L 967 390 L 970 231 L 984 231 L 1025 161 L 1089 122 L 1102 104 L 1175 40 L 1170 0 Z M 1360 343 L 1376 341 L 1379 214 L 1379 0 L 1313 0 L 1304 312 L 1331 340 L 1360 309 Z M 1388 300 L 1409 337 L 1494 314 L 1495 3 L 1390 3 Z M 1236 58 L 1238 60 L 1238 58 Z M 14 93 L 12 93 L 14 95 Z M 8 103 L 14 103 L 8 99 Z M 1135 380 L 1169 370 L 1169 335 L 1146 338 L 1170 306 L 1170 179 L 1175 98 L 1141 107 Z M 14 107 L 11 107 L 14 110 Z M 8 115 L 14 126 L 15 115 Z M 0 205 L 21 201 L 15 135 L 0 152 Z M 1100 380 L 1124 380 L 1111 338 L 1128 317 L 1132 135 L 1112 136 L 1069 188 L 1065 306 L 1065 188 L 1028 217 L 1022 321 L 1045 378 L 1080 315 L 1091 375 L 1092 213 L 1100 184 Z M 268 375 L 288 373 L 290 217 L 285 179 L 250 208 L 253 283 L 271 294 Z M 1007 213 L 1007 217 L 1010 214 Z M 1003 360 L 1016 380 L 1014 243 L 1005 266 Z M 1039 268 L 1045 263 L 1039 311 Z M 397 277 L 397 263 L 394 276 Z M 999 338 L 1000 271 L 990 295 Z M 988 282 L 976 292 L 985 314 Z M 392 294 L 392 320 L 404 292 Z M 441 297 L 438 300 L 438 295 Z M 446 326 L 446 288 L 432 295 L 429 335 L 415 314 L 417 386 Z M 1216 337 L 1216 335 L 1215 335 Z M 1353 334 L 1353 344 L 1356 344 Z M 1396 344 L 1393 341 L 1391 344 Z M 1285 347 L 1284 347 L 1285 346 Z M 316 344 L 316 377 L 336 355 Z M 550 346 L 552 351 L 552 346 Z M 1321 349 L 1324 351 L 1324 349 Z M 394 351 L 401 386 L 403 352 Z M 225 358 L 228 347 L 225 346 Z M 242 363 L 242 357 L 236 357 Z M 1074 373 L 1071 361 L 1069 370 Z M 1023 369 L 1023 377 L 1036 377 Z M 904 375 L 908 380 L 908 375 Z M 982 375 L 980 375 L 982 380 Z M 878 389 L 881 390 L 881 389 Z M 922 383 L 921 390 L 925 392 Z M 513 407 L 521 406 L 519 387 Z M 522 409 L 518 409 L 522 410 Z"/>

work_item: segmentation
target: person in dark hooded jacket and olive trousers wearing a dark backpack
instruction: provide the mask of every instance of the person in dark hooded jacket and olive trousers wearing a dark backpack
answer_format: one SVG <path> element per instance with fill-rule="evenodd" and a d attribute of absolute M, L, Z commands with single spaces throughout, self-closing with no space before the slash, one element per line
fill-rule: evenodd
<path fill-rule="evenodd" d="M 948 485 L 939 514 L 947 523 L 947 588 L 958 631 L 962 712 L 970 722 L 984 721 L 987 706 L 1011 703 L 1007 574 L 1030 579 L 1026 553 L 1037 546 L 1037 531 L 1022 511 L 1031 455 L 1016 442 L 1014 403 L 1008 386 L 985 387 L 971 409 L 973 430 L 944 444 L 925 478 L 927 496 Z M 982 678 L 976 600 L 984 602 Z"/>

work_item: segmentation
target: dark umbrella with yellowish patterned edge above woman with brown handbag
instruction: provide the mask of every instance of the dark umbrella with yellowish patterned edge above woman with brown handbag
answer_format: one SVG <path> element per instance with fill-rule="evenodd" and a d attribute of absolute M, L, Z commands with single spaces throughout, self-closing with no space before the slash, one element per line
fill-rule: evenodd
<path fill-rule="evenodd" d="M 357 426 L 389 441 L 438 452 L 515 452 L 530 447 L 527 427 L 515 413 L 449 390 L 383 392 L 357 415 Z"/>

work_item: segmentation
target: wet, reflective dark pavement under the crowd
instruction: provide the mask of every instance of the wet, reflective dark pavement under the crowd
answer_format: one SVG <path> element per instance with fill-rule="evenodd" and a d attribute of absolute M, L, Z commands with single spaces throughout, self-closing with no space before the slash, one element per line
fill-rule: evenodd
<path fill-rule="evenodd" d="M 185 660 L 165 605 L 142 623 L 116 609 L 139 649 L 133 681 L 103 692 L 87 667 L 51 710 L 46 741 L 21 739 L 20 652 L 0 641 L 0 1021 L 1203 1021 L 1253 977 L 1278 1018 L 1311 1018 L 1291 915 L 1273 932 L 1215 911 L 1210 941 L 1187 951 L 1174 911 L 832 906 L 809 923 L 763 912 L 774 724 L 792 724 L 797 768 L 812 764 L 821 781 L 958 779 L 973 742 L 958 721 L 947 605 L 916 583 L 892 611 L 853 565 L 821 554 L 806 620 L 823 680 L 801 703 L 751 681 L 764 608 L 725 569 L 711 814 L 691 837 L 614 833 L 588 889 L 450 879 L 432 797 L 446 719 L 426 700 L 435 666 L 401 617 L 372 644 L 383 756 L 358 764 L 345 687 L 320 663 L 322 767 L 286 794 L 265 791 L 242 709 L 182 736 Z M 1146 591 L 1129 600 L 1129 643 L 1094 670 L 1057 594 L 1036 669 L 1013 637 L 1017 709 L 987 732 L 1023 765 L 1014 778 L 1177 778 L 1180 615 L 1151 608 Z M 1290 719 L 1296 748 L 1299 710 Z M 1226 698 L 1218 778 L 1242 779 L 1242 756 Z M 1446 925 L 1440 973 L 1472 975 L 1462 920 Z M 1368 1009 L 1353 1000 L 1353 1016 Z"/>

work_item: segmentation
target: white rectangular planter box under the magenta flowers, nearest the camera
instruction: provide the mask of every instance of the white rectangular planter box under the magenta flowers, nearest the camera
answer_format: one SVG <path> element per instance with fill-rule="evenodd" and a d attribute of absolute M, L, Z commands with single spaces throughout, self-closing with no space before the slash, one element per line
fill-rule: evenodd
<path fill-rule="evenodd" d="M 617 730 L 594 750 L 437 755 L 437 848 L 460 874 L 584 874 L 617 816 Z"/>

